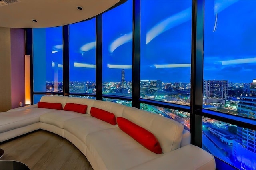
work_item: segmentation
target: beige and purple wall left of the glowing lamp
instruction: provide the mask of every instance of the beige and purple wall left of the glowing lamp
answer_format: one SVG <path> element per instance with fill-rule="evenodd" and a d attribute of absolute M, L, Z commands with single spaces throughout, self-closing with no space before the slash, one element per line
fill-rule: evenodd
<path fill-rule="evenodd" d="M 24 29 L 0 27 L 1 112 L 25 103 L 24 55 Z"/>

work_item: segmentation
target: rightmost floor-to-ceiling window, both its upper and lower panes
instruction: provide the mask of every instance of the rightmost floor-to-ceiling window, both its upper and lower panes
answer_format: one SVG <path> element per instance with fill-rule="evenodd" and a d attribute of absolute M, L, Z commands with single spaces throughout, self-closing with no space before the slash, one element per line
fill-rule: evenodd
<path fill-rule="evenodd" d="M 256 119 L 256 1 L 205 1 L 203 107 Z M 203 148 L 256 168 L 255 130 L 205 118 Z"/>

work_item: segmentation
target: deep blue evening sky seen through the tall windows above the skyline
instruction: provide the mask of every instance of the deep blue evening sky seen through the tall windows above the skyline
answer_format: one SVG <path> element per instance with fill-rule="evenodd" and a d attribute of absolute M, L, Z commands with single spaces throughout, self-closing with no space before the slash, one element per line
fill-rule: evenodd
<path fill-rule="evenodd" d="M 186 0 L 141 1 L 141 80 L 190 82 L 191 6 Z M 255 0 L 205 1 L 204 79 L 256 78 L 255 6 Z M 46 75 L 36 71 L 44 65 L 40 60 L 35 76 L 54 81 L 58 69 L 62 81 L 62 27 L 34 30 L 34 66 L 37 56 L 47 56 Z M 95 35 L 95 19 L 70 25 L 70 81 L 95 81 Z M 102 64 L 103 82 L 121 81 L 122 68 L 132 80 L 132 0 L 103 14 Z"/>

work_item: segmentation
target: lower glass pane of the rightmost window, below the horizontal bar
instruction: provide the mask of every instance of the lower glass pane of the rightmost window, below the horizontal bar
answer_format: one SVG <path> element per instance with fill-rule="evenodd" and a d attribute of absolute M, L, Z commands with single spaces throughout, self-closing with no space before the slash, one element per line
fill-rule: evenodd
<path fill-rule="evenodd" d="M 241 170 L 256 169 L 256 131 L 203 117 L 202 148 Z M 248 132 L 252 134 L 249 135 Z"/>

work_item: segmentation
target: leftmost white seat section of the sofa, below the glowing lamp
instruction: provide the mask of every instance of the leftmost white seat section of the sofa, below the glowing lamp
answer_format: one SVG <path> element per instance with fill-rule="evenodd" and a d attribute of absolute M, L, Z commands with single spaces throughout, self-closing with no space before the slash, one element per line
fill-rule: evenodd
<path fill-rule="evenodd" d="M 40 115 L 56 111 L 54 109 L 31 108 L 23 111 L 1 112 L 0 132 L 6 132 L 32 123 L 40 122 Z"/>

